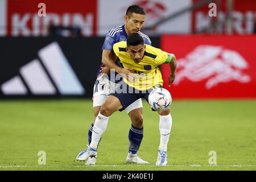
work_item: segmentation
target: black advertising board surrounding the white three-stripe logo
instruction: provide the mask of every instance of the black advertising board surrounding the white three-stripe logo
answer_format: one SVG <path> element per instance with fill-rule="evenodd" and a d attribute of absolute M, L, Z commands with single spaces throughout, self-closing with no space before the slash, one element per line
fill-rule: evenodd
<path fill-rule="evenodd" d="M 151 40 L 153 46 L 160 46 L 159 38 L 151 38 Z M 96 73 L 101 64 L 101 47 L 104 38 L 0 38 L 0 85 L 14 76 L 22 78 L 19 73 L 20 67 L 30 63 L 34 59 L 39 59 L 38 51 L 52 42 L 59 44 L 73 71 L 76 73 L 77 78 L 85 89 L 85 94 L 80 96 L 69 95 L 69 97 L 92 97 Z M 39 59 L 39 61 L 41 60 Z M 43 68 L 53 85 L 55 85 L 47 69 L 45 67 Z M 26 96 L 5 95 L 0 89 L 0 98 L 67 97 L 61 96 L 59 92 L 55 95 L 31 94 L 26 81 L 24 81 L 23 78 L 22 81 L 28 90 Z"/>

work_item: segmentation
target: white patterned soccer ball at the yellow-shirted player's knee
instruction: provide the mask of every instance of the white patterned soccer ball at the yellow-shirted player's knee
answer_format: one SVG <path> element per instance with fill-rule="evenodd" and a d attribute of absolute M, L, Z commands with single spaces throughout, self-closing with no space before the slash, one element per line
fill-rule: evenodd
<path fill-rule="evenodd" d="M 157 88 L 150 92 L 148 96 L 148 104 L 154 110 L 164 110 L 170 107 L 172 96 L 170 92 L 164 88 Z"/>

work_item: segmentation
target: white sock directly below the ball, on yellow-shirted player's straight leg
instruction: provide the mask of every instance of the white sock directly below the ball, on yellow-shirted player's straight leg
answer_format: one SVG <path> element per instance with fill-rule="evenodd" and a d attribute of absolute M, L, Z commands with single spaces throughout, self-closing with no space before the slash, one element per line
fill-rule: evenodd
<path fill-rule="evenodd" d="M 160 145 L 159 150 L 167 151 L 167 144 L 171 134 L 172 117 L 171 114 L 159 115 L 159 131 L 160 131 Z"/>

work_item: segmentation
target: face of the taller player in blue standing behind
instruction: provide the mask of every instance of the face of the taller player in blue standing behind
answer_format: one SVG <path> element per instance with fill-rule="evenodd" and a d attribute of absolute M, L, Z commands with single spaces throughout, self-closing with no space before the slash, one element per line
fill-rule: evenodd
<path fill-rule="evenodd" d="M 125 15 L 125 27 L 127 34 L 130 35 L 140 31 L 144 25 L 145 18 L 146 15 L 141 15 L 137 13 L 132 13 L 130 17 Z"/>

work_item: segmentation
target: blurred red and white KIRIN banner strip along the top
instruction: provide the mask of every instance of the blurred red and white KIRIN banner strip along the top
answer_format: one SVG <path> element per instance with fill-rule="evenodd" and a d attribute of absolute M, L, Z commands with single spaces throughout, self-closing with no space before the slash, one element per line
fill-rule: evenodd
<path fill-rule="evenodd" d="M 253 34 L 255 0 L 44 0 L 46 16 L 40 17 L 40 0 L 0 0 L 0 36 L 105 36 L 124 24 L 127 7 L 146 10 L 143 32 L 162 34 Z M 215 3 L 217 16 L 209 16 Z M 114 8 L 113 8 L 114 7 Z"/>

